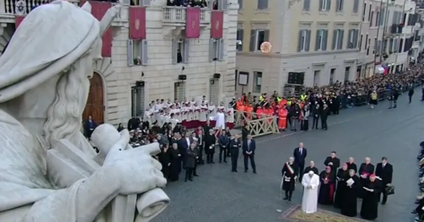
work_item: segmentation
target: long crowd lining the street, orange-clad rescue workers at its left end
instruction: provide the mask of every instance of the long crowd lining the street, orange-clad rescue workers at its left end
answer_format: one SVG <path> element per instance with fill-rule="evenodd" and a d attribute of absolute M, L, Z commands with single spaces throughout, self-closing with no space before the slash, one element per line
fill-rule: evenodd
<path fill-rule="evenodd" d="M 336 81 L 326 86 L 306 87 L 299 96 L 280 97 L 275 91 L 268 98 L 263 93 L 259 98 L 251 93 L 243 94 L 236 101 L 236 110 L 255 113 L 248 118 L 262 118 L 266 115 L 278 117 L 278 128 L 283 131 L 309 129 L 309 119 L 312 119 L 312 129 L 327 130 L 329 115 L 339 114 L 340 109 L 352 108 L 369 104 L 374 108 L 378 101 L 389 100 L 388 109 L 397 107 L 399 94 L 409 91 L 411 103 L 414 88 L 423 79 L 423 63 L 416 63 L 400 73 L 375 75 L 356 81 L 344 83 Z M 422 91 L 424 99 L 424 89 Z M 319 126 L 318 126 L 319 125 Z"/>

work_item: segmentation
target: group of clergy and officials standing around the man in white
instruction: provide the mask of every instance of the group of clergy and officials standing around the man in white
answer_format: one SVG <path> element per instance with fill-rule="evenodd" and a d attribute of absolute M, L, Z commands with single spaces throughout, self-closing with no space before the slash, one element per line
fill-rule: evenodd
<path fill-rule="evenodd" d="M 307 155 L 307 149 L 300 143 L 281 170 L 284 199 L 291 201 L 295 183 L 299 180 L 304 188 L 302 210 L 307 214 L 315 213 L 319 203 L 333 205 L 340 209 L 342 215 L 355 217 L 357 198 L 360 198 L 361 218 L 375 220 L 380 200 L 381 204 L 385 204 L 387 196 L 394 193 L 394 186 L 391 185 L 393 167 L 386 157 L 382 157 L 376 166 L 366 157 L 358 168 L 353 157 L 341 164 L 336 151 L 332 151 L 324 160 L 324 170 L 319 172 L 314 161 L 304 168 Z"/>

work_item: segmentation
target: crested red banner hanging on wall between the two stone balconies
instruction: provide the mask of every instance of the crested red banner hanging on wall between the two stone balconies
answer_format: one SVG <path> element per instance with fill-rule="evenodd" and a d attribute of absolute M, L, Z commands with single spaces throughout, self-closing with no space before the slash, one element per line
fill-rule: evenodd
<path fill-rule="evenodd" d="M 146 7 L 129 7 L 129 38 L 146 39 Z"/>

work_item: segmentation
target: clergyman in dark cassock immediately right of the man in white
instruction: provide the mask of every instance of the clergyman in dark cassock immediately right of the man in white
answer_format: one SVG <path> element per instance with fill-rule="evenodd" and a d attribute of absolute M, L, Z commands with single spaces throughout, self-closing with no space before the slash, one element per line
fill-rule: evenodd
<path fill-rule="evenodd" d="M 319 174 L 320 187 L 318 194 L 318 203 L 322 205 L 332 205 L 336 184 L 333 171 L 330 166 L 326 166 L 325 170 Z"/>

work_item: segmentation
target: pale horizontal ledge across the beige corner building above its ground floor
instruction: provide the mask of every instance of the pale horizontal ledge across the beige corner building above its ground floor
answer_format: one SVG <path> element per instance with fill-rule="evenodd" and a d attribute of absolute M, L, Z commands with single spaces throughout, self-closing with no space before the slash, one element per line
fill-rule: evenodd
<path fill-rule="evenodd" d="M 268 57 L 268 58 L 292 58 L 292 57 L 308 57 L 308 56 L 319 56 L 319 55 L 328 55 L 334 54 L 335 56 L 339 54 L 345 53 L 358 53 L 358 49 L 343 49 L 343 50 L 335 50 L 335 51 L 320 51 L 320 52 L 296 52 L 296 53 L 261 53 L 261 52 L 237 52 L 237 56 L 245 56 L 245 57 Z"/>

